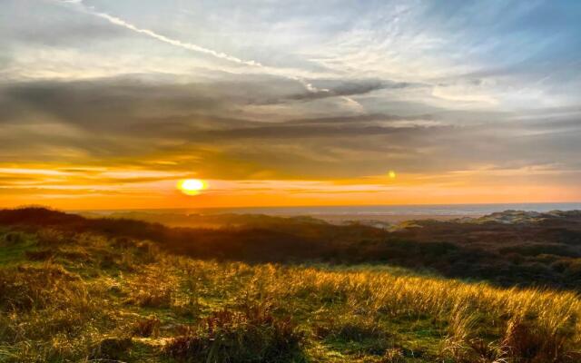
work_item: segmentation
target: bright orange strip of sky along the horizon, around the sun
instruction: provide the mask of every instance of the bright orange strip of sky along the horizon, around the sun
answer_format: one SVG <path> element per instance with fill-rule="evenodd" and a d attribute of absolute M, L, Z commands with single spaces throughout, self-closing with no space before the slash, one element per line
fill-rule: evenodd
<path fill-rule="evenodd" d="M 198 195 L 186 195 L 177 188 L 180 176 L 186 175 L 178 172 L 106 169 L 70 172 L 67 168 L 50 170 L 38 166 L 0 168 L 0 171 L 13 179 L 9 186 L 3 185 L 0 189 L 2 207 L 40 204 L 64 210 L 106 210 L 581 200 L 577 188 L 558 188 L 547 183 L 535 185 L 529 181 L 529 172 L 525 174 L 525 181 L 518 173 L 507 171 L 446 175 L 397 173 L 395 177 L 386 173 L 334 181 L 206 180 L 206 190 Z M 542 174 L 537 176 L 547 177 L 547 172 Z M 515 185 L 519 180 L 520 184 Z"/>

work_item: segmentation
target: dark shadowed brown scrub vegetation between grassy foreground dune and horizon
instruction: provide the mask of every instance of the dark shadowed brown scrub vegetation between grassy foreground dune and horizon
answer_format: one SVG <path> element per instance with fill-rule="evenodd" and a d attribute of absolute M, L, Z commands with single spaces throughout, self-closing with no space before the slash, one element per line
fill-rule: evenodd
<path fill-rule="evenodd" d="M 506 211 L 470 221 L 411 221 L 393 231 L 302 217 L 227 214 L 202 220 L 224 224 L 221 229 L 170 228 L 151 221 L 85 219 L 42 208 L 0 211 L 0 225 L 153 240 L 163 250 L 196 259 L 389 263 L 502 287 L 581 287 L 581 211 Z M 165 216 L 162 221 L 172 219 Z"/>

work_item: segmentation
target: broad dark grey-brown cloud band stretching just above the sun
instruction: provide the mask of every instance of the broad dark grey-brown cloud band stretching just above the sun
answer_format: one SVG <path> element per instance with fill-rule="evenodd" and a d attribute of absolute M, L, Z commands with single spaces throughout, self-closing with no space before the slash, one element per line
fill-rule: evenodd
<path fill-rule="evenodd" d="M 15 83 L 0 92 L 0 162 L 196 171 L 227 180 L 329 180 L 485 165 L 581 168 L 575 109 L 531 113 L 525 121 L 510 113 L 473 112 L 338 113 L 276 122 L 252 117 L 249 108 L 272 93 L 285 104 L 297 88 L 272 78 Z"/>

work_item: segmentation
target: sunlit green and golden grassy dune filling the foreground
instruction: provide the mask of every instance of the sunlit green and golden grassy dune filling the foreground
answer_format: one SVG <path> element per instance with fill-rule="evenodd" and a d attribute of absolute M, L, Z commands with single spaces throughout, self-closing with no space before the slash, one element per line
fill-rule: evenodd
<path fill-rule="evenodd" d="M 0 361 L 576 362 L 576 294 L 0 231 Z"/>

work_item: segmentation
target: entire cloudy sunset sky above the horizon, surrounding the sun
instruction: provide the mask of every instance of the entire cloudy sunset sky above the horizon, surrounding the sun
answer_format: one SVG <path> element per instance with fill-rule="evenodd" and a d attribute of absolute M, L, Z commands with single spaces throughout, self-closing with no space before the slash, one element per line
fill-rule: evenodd
<path fill-rule="evenodd" d="M 0 0 L 0 207 L 581 201 L 580 17 Z M 190 178 L 208 188 L 176 189 Z"/>

